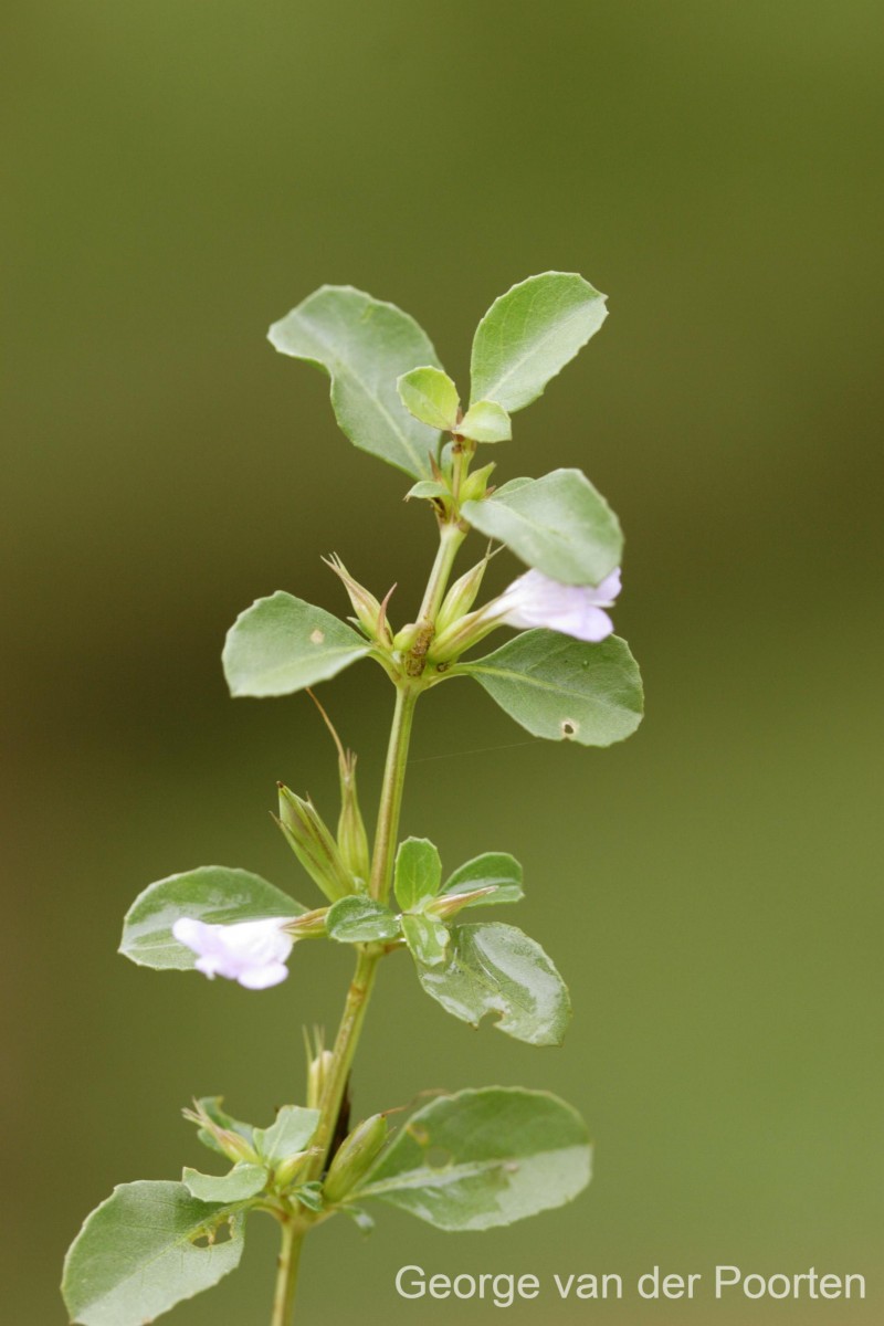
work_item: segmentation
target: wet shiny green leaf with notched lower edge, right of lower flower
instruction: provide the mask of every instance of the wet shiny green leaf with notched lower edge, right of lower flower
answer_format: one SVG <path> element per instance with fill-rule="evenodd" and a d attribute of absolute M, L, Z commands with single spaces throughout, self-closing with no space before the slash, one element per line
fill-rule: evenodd
<path fill-rule="evenodd" d="M 457 926 L 444 967 L 417 968 L 420 984 L 445 1012 L 494 1026 L 529 1045 L 561 1045 L 571 1017 L 567 987 L 543 949 L 516 926 Z"/>

